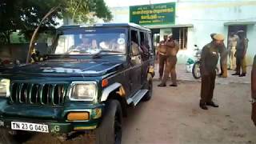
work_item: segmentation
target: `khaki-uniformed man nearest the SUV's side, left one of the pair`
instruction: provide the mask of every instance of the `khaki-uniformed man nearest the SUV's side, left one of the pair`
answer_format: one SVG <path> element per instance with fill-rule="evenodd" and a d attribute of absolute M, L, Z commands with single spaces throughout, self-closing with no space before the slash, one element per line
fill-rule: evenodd
<path fill-rule="evenodd" d="M 158 58 L 159 58 L 159 79 L 162 80 L 163 70 L 166 64 L 166 51 L 167 46 L 165 45 L 165 42 L 167 41 L 167 35 L 163 36 L 163 41 L 161 41 L 158 45 Z"/>

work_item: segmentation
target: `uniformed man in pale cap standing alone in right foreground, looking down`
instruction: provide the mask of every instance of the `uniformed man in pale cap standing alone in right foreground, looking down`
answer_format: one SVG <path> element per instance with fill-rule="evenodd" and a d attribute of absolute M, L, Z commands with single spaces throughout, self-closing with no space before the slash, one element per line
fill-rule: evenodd
<path fill-rule="evenodd" d="M 214 86 L 216 78 L 216 66 L 218 64 L 218 53 L 224 41 L 222 34 L 214 34 L 213 41 L 202 48 L 201 58 L 201 100 L 199 106 L 203 110 L 208 110 L 207 106 L 218 107 L 212 101 L 214 96 Z"/>

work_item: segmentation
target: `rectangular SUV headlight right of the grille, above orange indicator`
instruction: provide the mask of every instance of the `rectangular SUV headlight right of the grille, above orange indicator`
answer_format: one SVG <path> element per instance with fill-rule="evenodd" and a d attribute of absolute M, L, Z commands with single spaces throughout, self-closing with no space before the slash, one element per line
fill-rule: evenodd
<path fill-rule="evenodd" d="M 94 101 L 97 97 L 96 82 L 72 82 L 70 100 Z"/>

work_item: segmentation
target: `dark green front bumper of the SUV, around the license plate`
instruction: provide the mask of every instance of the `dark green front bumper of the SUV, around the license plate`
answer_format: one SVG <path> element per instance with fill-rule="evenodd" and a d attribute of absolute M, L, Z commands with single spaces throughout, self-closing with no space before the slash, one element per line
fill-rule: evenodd
<path fill-rule="evenodd" d="M 102 120 L 102 114 L 94 113 L 96 109 L 104 110 L 104 104 L 86 104 L 83 102 L 66 103 L 65 106 L 9 105 L 0 100 L 0 128 L 11 130 L 11 122 L 29 122 L 48 126 L 49 133 L 65 134 L 78 130 L 94 130 Z M 68 121 L 70 112 L 88 112 L 90 119 L 85 121 Z"/>

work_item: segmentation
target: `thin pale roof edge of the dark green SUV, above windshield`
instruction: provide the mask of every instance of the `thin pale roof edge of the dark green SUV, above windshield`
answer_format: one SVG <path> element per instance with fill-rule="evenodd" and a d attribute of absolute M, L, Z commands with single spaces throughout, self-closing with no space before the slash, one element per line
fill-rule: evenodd
<path fill-rule="evenodd" d="M 139 26 L 135 23 L 98 23 L 94 25 L 73 25 L 73 26 L 61 26 L 58 28 L 59 30 L 65 30 L 65 29 L 71 29 L 71 28 L 81 28 L 81 27 L 134 27 L 137 29 L 142 29 L 146 31 L 150 31 L 150 29 L 147 29 L 146 27 Z"/>

